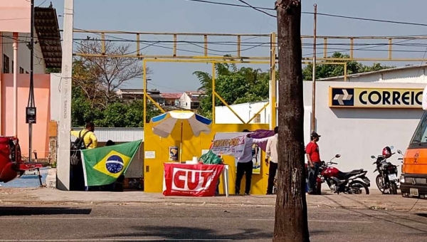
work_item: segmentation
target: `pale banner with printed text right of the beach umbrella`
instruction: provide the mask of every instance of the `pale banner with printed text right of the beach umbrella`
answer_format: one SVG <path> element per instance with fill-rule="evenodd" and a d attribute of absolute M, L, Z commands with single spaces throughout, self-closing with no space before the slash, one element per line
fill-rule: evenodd
<path fill-rule="evenodd" d="M 245 150 L 246 132 L 217 132 L 211 151 L 216 155 L 232 155 L 242 157 Z"/>

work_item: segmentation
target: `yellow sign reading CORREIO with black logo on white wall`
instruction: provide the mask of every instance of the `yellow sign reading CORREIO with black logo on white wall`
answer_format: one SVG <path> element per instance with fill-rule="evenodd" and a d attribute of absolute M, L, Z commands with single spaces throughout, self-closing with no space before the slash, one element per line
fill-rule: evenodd
<path fill-rule="evenodd" d="M 422 88 L 330 87 L 330 107 L 421 108 Z"/>

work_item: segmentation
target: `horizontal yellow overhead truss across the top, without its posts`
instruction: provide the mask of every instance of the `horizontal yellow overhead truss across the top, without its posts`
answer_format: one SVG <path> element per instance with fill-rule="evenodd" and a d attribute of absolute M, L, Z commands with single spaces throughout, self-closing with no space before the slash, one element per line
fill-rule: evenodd
<path fill-rule="evenodd" d="M 275 33 L 270 34 L 251 34 L 251 33 L 162 33 L 162 32 L 131 32 L 131 31 L 107 31 L 107 30 L 83 30 L 83 29 L 74 29 L 74 33 L 92 33 L 97 36 L 100 36 L 100 41 L 102 41 L 102 51 L 97 54 L 87 54 L 87 53 L 73 53 L 74 56 L 82 56 L 82 57 L 126 57 L 126 58 L 179 58 L 179 59 L 209 59 L 209 60 L 256 60 L 256 61 L 270 61 L 270 56 L 243 56 L 242 45 L 244 42 L 242 41 L 242 37 L 248 38 L 268 38 L 268 41 L 265 42 L 265 45 L 271 43 L 278 43 L 277 36 Z M 122 38 L 113 35 L 125 35 L 125 36 L 133 36 L 132 38 Z M 173 44 L 171 48 L 172 53 L 170 55 L 144 55 L 141 53 L 140 43 L 144 41 L 141 40 L 142 36 L 166 36 L 169 43 Z M 203 48 L 204 54 L 203 56 L 181 56 L 178 54 L 179 48 L 178 45 L 182 41 L 178 40 L 179 36 L 186 37 L 203 37 Z M 127 55 L 108 55 L 105 53 L 105 41 L 111 41 L 107 39 L 108 37 L 114 38 L 115 41 L 127 41 L 136 43 L 136 51 L 134 53 L 130 53 Z M 236 55 L 234 56 L 209 56 L 209 39 L 210 38 L 236 38 Z M 302 46 L 305 44 L 312 46 L 313 36 L 301 36 Z M 317 46 L 323 49 L 322 57 L 317 57 L 317 61 L 402 61 L 402 62 L 413 62 L 413 61 L 427 61 L 427 57 L 424 58 L 395 58 L 393 56 L 394 50 L 393 46 L 405 41 L 423 41 L 427 40 L 427 36 L 316 36 L 316 40 L 323 40 L 322 43 L 318 43 Z M 308 40 L 311 42 L 306 43 Z M 340 43 L 344 46 L 349 47 L 348 49 L 342 51 L 330 51 L 329 46 L 334 46 L 337 43 L 333 43 L 333 41 L 344 41 L 344 43 Z M 354 56 L 354 51 L 359 51 L 362 48 L 355 48 L 358 46 L 354 41 L 386 41 L 386 43 L 376 43 L 379 44 L 379 47 L 388 46 L 387 57 L 384 58 L 364 58 Z M 262 45 L 260 45 L 262 46 Z M 271 51 L 271 48 L 270 48 Z M 330 52 L 328 52 L 330 51 Z M 348 58 L 332 58 L 328 57 L 328 53 L 332 52 L 349 52 Z M 378 50 L 377 50 L 378 51 Z M 277 59 L 277 56 L 275 57 Z M 302 61 L 312 61 L 312 57 L 303 57 Z M 322 64 L 322 63 L 319 63 Z"/>

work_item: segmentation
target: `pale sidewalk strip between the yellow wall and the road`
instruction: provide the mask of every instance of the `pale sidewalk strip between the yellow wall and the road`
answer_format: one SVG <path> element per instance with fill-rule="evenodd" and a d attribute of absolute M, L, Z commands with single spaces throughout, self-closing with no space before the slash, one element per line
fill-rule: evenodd
<path fill-rule="evenodd" d="M 325 191 L 322 196 L 307 196 L 307 206 L 344 209 L 387 209 L 427 211 L 427 200 L 408 199 L 401 195 L 344 195 Z M 163 196 L 142 191 L 85 192 L 57 189 L 0 189 L 0 205 L 191 205 L 191 206 L 275 206 L 276 196 Z"/>

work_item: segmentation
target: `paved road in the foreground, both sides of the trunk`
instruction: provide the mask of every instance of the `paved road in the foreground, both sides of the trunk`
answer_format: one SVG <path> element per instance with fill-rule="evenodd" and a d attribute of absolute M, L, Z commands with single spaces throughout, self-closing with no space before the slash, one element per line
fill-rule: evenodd
<path fill-rule="evenodd" d="M 0 206 L 0 241 L 271 241 L 270 206 Z M 310 209 L 312 241 L 424 241 L 427 214 Z M 197 240 L 196 240 L 197 239 Z"/>

